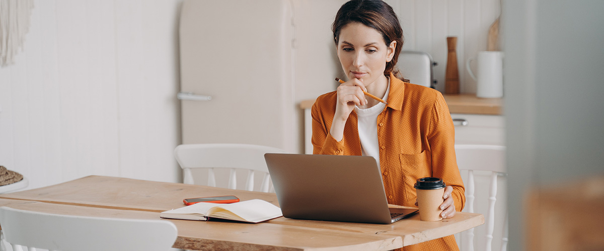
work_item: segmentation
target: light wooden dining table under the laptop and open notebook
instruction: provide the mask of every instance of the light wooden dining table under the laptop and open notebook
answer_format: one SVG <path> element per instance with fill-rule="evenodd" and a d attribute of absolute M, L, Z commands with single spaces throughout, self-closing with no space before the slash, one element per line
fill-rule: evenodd
<path fill-rule="evenodd" d="M 235 195 L 278 205 L 273 193 L 201 185 L 88 176 L 16 193 L 0 194 L 0 206 L 56 214 L 116 218 L 159 218 L 159 212 L 184 206 L 188 197 Z M 391 225 L 275 218 L 264 223 L 172 220 L 178 228 L 173 247 L 190 250 L 391 250 L 445 237 L 484 223 L 481 214 L 457 212 L 441 222 L 419 215 Z"/>

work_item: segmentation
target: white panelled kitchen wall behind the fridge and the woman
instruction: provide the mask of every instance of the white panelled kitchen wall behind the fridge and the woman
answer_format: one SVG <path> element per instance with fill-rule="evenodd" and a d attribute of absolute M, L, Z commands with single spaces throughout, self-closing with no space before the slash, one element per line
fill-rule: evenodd
<path fill-rule="evenodd" d="M 30 188 L 93 174 L 178 182 L 180 2 L 35 1 L 24 51 L 0 68 L 0 164 L 30 178 Z M 341 69 L 330 25 L 343 2 L 292 1 L 292 106 L 335 90 Z M 464 62 L 486 49 L 498 1 L 388 3 L 402 22 L 403 49 L 427 51 L 439 63 L 439 90 L 446 37 L 458 36 L 461 91 L 475 92 Z"/>

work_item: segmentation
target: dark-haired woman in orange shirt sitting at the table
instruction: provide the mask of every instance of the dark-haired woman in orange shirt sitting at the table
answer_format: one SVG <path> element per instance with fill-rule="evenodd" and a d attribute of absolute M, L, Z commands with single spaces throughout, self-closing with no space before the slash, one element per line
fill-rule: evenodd
<path fill-rule="evenodd" d="M 352 0 L 332 26 L 349 81 L 321 95 L 312 107 L 313 153 L 373 156 L 381 168 L 388 203 L 416 205 L 416 180 L 442 178 L 448 185 L 442 217 L 454 217 L 465 201 L 454 149 L 454 126 L 439 91 L 409 84 L 395 70 L 402 28 L 381 0 Z M 388 104 L 365 97 L 362 91 Z M 404 250 L 458 250 L 451 235 Z"/>

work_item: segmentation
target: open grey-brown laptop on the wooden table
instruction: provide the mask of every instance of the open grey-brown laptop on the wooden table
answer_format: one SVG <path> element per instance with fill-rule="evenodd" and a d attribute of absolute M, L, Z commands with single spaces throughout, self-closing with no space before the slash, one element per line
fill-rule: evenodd
<path fill-rule="evenodd" d="M 265 160 L 284 217 L 390 224 L 417 212 L 388 208 L 371 156 L 266 153 Z"/>

